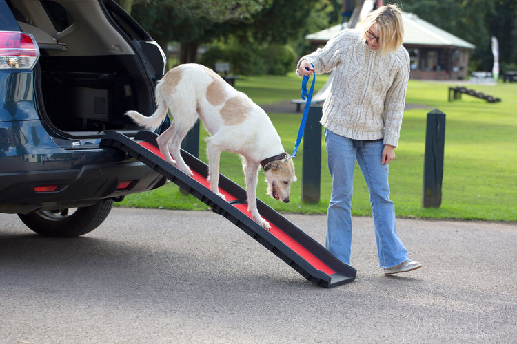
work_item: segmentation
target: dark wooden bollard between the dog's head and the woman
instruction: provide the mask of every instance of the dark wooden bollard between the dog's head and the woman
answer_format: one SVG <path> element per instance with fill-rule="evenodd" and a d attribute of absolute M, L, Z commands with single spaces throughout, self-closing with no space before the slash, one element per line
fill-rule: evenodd
<path fill-rule="evenodd" d="M 321 185 L 321 105 L 312 105 L 303 133 L 301 196 L 305 203 L 320 202 Z"/>

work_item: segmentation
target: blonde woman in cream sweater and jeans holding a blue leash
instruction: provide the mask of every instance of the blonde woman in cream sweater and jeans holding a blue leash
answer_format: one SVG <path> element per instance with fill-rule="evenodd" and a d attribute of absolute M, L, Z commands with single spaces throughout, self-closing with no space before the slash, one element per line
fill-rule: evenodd
<path fill-rule="evenodd" d="M 382 6 L 367 16 L 362 30 L 343 30 L 325 47 L 303 56 L 297 69 L 300 76 L 334 69 L 321 118 L 332 175 L 325 246 L 350 264 L 357 160 L 372 204 L 379 265 L 386 275 L 422 266 L 409 259 L 389 200 L 388 164 L 395 158 L 409 80 L 403 30 L 398 7 Z"/>

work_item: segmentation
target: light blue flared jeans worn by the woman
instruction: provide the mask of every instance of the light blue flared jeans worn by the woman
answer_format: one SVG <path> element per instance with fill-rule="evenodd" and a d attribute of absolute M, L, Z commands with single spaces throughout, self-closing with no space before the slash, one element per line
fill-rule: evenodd
<path fill-rule="evenodd" d="M 365 178 L 372 204 L 378 261 L 390 268 L 407 260 L 407 250 L 398 237 L 395 206 L 389 200 L 388 165 L 381 164 L 382 141 L 352 140 L 325 129 L 325 144 L 332 195 L 327 211 L 325 247 L 346 264 L 352 248 L 352 192 L 356 159 Z"/>

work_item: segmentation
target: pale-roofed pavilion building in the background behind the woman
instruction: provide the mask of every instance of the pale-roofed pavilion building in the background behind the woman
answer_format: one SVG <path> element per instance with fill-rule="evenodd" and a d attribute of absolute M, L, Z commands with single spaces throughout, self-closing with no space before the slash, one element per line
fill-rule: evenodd
<path fill-rule="evenodd" d="M 411 59 L 412 79 L 458 80 L 467 78 L 469 55 L 476 46 L 442 30 L 416 14 L 402 12 L 404 22 L 403 45 Z M 308 34 L 305 38 L 314 46 L 325 45 L 327 41 L 347 23 L 338 24 Z"/>

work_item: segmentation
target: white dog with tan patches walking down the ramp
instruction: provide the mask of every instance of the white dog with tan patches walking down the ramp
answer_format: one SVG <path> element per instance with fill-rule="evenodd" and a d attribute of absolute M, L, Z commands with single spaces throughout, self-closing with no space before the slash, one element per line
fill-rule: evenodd
<path fill-rule="evenodd" d="M 156 86 L 156 105 L 158 109 L 150 117 L 136 111 L 128 111 L 126 115 L 136 124 L 155 130 L 169 109 L 174 118 L 172 125 L 156 141 L 168 162 L 188 175 L 192 172 L 181 158 L 181 141 L 197 118 L 201 118 L 211 135 L 205 141 L 212 191 L 224 197 L 218 188 L 221 151 L 238 153 L 243 160 L 248 211 L 256 222 L 270 229 L 270 224 L 256 208 L 260 166 L 262 164 L 265 171 L 267 194 L 283 202 L 289 202 L 290 186 L 296 176 L 292 159 L 285 153 L 280 137 L 263 109 L 228 85 L 212 69 L 196 64 L 179 65 L 163 76 Z"/>

